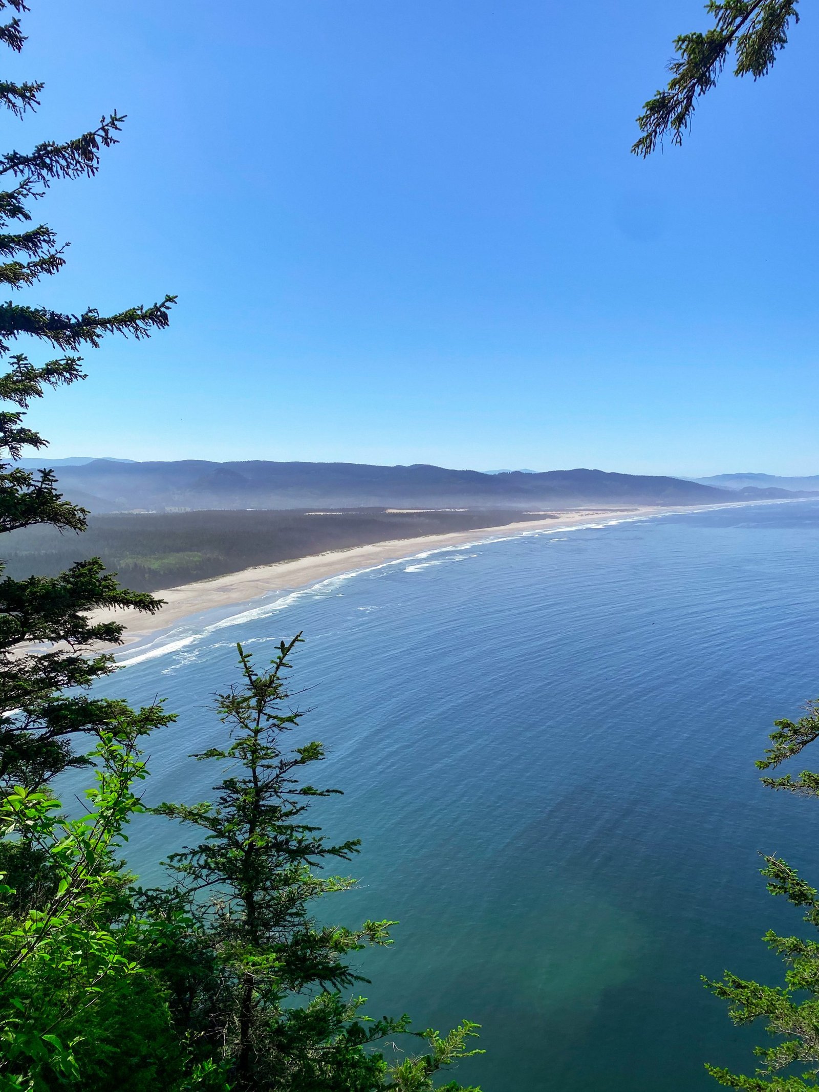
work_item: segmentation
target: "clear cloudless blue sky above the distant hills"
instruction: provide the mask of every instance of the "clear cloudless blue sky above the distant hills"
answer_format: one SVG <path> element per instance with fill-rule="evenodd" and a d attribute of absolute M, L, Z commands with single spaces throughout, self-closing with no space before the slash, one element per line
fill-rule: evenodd
<path fill-rule="evenodd" d="M 819 472 L 819 13 L 629 154 L 689 0 L 32 0 L 7 147 L 74 310 L 179 295 L 33 414 L 54 455 Z"/>

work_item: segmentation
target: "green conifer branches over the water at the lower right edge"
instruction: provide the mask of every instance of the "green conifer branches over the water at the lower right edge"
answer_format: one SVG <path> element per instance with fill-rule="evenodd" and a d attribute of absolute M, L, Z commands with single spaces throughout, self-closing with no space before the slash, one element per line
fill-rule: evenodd
<path fill-rule="evenodd" d="M 771 735 L 773 746 L 757 762 L 761 770 L 775 769 L 819 738 L 819 702 L 811 702 L 800 720 L 775 724 L 776 731 Z M 819 774 L 809 770 L 798 778 L 785 774 L 762 781 L 771 788 L 819 796 Z M 765 857 L 762 875 L 768 878 L 771 894 L 784 895 L 804 912 L 808 925 L 819 930 L 819 893 L 815 888 L 779 857 Z M 704 981 L 717 997 L 728 1002 L 735 1023 L 763 1020 L 778 1042 L 757 1048 L 763 1065 L 752 1077 L 714 1066 L 708 1069 L 721 1084 L 746 1092 L 806 1092 L 819 1085 L 819 940 L 781 937 L 772 930 L 763 939 L 785 962 L 784 986 L 764 986 L 729 972 L 722 982 Z"/>

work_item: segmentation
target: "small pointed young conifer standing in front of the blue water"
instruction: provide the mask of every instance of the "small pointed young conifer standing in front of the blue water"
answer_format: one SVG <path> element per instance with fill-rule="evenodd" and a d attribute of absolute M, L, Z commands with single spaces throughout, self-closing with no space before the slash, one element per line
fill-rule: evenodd
<path fill-rule="evenodd" d="M 363 998 L 342 996 L 366 981 L 349 956 L 366 943 L 390 943 L 395 923 L 365 922 L 351 930 L 311 916 L 313 900 L 354 886 L 318 869 L 348 860 L 358 842 L 329 843 L 308 819 L 316 799 L 336 792 L 301 780 L 323 759 L 321 744 L 283 747 L 283 736 L 302 716 L 289 704 L 285 678 L 299 640 L 282 642 L 262 672 L 239 645 L 242 684 L 217 701 L 230 741 L 194 756 L 227 763 L 215 800 L 155 809 L 201 831 L 203 840 L 171 856 L 176 892 L 145 895 L 159 919 L 183 905 L 190 923 L 185 940 L 179 936 L 170 948 L 147 953 L 147 961 L 153 958 L 165 975 L 180 1036 L 226 1066 L 232 1088 L 422 1092 L 440 1069 L 479 1053 L 467 1049 L 476 1025 L 464 1021 L 443 1037 L 422 1032 L 430 1053 L 390 1066 L 375 1044 L 406 1033 L 407 1018 L 370 1021 L 358 1014 Z"/>

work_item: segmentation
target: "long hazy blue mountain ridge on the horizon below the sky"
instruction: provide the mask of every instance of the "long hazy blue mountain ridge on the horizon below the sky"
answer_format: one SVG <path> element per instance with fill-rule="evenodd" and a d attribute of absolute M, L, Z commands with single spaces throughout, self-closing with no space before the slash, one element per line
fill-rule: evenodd
<path fill-rule="evenodd" d="M 47 465 L 47 460 L 41 460 Z M 681 478 L 577 468 L 496 474 L 416 463 L 207 460 L 51 465 L 66 497 L 92 512 L 284 508 L 573 508 L 579 505 L 697 505 L 773 499 L 779 488 L 716 488 Z"/>

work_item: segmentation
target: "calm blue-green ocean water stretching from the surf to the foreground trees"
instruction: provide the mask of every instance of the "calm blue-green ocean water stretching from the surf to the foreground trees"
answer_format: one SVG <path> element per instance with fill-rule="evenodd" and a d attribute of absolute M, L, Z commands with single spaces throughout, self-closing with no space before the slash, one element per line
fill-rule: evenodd
<path fill-rule="evenodd" d="M 700 975 L 775 982 L 759 938 L 799 930 L 759 851 L 819 881 L 819 805 L 753 768 L 819 696 L 818 567 L 817 502 L 498 536 L 182 627 L 104 689 L 167 698 L 149 797 L 202 798 L 187 756 L 221 738 L 236 641 L 263 661 L 304 630 L 312 780 L 345 793 L 316 818 L 364 840 L 327 913 L 401 922 L 361 961 L 368 1010 L 479 1022 L 458 1077 L 485 1092 L 697 1092 L 764 1040 Z M 141 820 L 134 865 L 179 840 Z"/>

